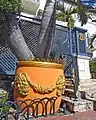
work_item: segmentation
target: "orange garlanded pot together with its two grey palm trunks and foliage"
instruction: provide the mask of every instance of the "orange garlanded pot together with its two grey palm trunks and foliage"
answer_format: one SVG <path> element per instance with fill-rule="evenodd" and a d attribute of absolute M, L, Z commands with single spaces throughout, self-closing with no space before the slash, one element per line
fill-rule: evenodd
<path fill-rule="evenodd" d="M 28 48 L 16 20 L 16 15 L 21 11 L 21 0 L 0 1 L 0 30 L 2 30 L 0 33 L 3 42 L 7 42 L 18 59 L 14 100 L 57 96 L 56 109 L 58 109 L 65 78 L 62 60 L 52 56 L 50 58 L 55 33 L 55 7 L 55 0 L 46 1 L 36 57 Z"/>

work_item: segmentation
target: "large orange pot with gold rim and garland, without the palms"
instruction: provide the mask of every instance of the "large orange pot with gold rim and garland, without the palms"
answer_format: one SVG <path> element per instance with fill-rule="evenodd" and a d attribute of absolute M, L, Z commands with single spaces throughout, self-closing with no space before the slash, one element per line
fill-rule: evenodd
<path fill-rule="evenodd" d="M 57 97 L 55 103 L 55 110 L 57 110 L 65 86 L 63 69 L 63 65 L 57 63 L 20 61 L 14 82 L 14 100 Z M 24 105 L 21 107 L 24 108 Z M 50 111 L 50 103 L 47 105 L 47 111 Z M 42 112 L 41 106 L 38 112 Z"/>

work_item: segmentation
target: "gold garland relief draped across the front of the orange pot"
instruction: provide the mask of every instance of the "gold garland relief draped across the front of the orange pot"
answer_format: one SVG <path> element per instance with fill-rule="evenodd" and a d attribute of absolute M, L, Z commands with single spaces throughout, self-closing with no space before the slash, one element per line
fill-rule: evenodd
<path fill-rule="evenodd" d="M 65 88 L 65 78 L 64 76 L 60 75 L 56 81 L 55 85 L 50 86 L 43 86 L 43 85 L 37 85 L 31 81 L 29 81 L 26 73 L 19 73 L 15 77 L 14 82 L 15 88 L 18 88 L 20 94 L 26 96 L 29 92 L 29 87 L 31 86 L 35 92 L 39 94 L 49 94 L 57 89 L 58 91 L 62 91 Z"/>

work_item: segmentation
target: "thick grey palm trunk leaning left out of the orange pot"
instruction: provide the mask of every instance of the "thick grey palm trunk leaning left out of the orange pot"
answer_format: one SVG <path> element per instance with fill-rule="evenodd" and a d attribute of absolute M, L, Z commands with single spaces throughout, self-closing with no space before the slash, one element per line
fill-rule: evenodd
<path fill-rule="evenodd" d="M 18 60 L 33 59 L 34 55 L 28 48 L 16 19 L 14 19 L 13 15 L 10 16 L 10 14 L 6 14 L 6 18 L 7 24 L 3 29 L 3 38 L 7 41 L 12 53 Z"/>

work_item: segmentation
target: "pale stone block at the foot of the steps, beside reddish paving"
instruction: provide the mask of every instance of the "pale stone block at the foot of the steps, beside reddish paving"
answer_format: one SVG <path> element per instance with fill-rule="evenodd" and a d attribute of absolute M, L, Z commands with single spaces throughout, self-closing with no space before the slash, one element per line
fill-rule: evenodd
<path fill-rule="evenodd" d="M 66 105 L 66 109 L 69 112 L 84 112 L 88 110 L 93 110 L 93 102 L 89 100 L 79 99 L 74 101 L 66 96 L 62 98 L 62 106 Z"/>

